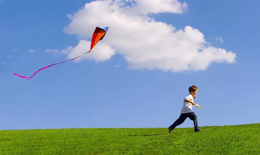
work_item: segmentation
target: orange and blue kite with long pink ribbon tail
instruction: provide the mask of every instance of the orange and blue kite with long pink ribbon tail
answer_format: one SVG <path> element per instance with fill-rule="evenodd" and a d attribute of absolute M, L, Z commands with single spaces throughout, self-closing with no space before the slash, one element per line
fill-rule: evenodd
<path fill-rule="evenodd" d="M 95 29 L 95 31 L 94 31 L 94 33 L 93 33 L 93 35 L 92 35 L 90 50 L 89 50 L 88 52 L 86 52 L 86 53 L 81 54 L 80 56 L 89 53 L 89 52 L 93 49 L 93 47 L 94 47 L 100 40 L 102 40 L 102 39 L 104 38 L 105 34 L 107 33 L 108 28 L 109 28 L 109 27 L 105 27 L 105 28 L 96 27 L 96 29 Z M 79 58 L 80 56 L 78 56 L 78 57 L 76 57 L 76 58 L 73 58 L 73 59 L 70 59 L 70 60 L 67 60 L 67 61 L 63 61 L 63 62 L 68 62 L 68 61 L 77 59 L 77 58 Z M 57 64 L 61 64 L 61 63 L 63 63 L 63 62 L 60 62 L 60 63 L 57 63 Z M 39 72 L 40 70 L 43 70 L 43 69 L 45 69 L 45 68 L 49 68 L 49 67 L 51 67 L 51 66 L 53 66 L 53 65 L 57 65 L 57 64 L 51 64 L 51 65 L 49 65 L 49 66 L 43 67 L 43 68 L 37 70 L 36 72 L 34 72 L 34 74 L 33 74 L 31 77 L 21 76 L 20 74 L 16 74 L 16 73 L 13 73 L 13 74 L 16 75 L 16 76 L 19 76 L 19 77 L 21 77 L 21 78 L 23 78 L 23 79 L 25 79 L 25 80 L 29 80 L 29 79 L 31 79 L 32 77 L 34 77 L 34 76 L 37 74 L 37 72 Z"/>

